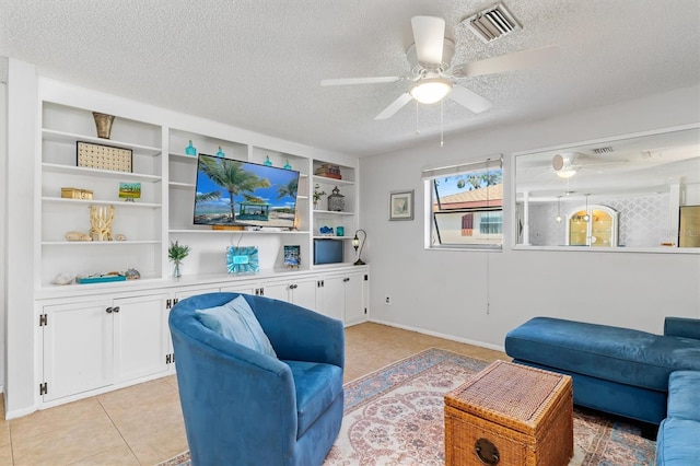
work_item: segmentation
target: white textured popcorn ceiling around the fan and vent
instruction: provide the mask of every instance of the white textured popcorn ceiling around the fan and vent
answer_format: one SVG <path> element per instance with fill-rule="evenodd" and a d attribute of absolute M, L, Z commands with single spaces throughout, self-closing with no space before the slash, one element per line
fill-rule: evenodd
<path fill-rule="evenodd" d="M 462 80 L 494 106 L 475 115 L 446 101 L 446 133 L 700 82 L 698 0 L 504 3 L 523 30 L 483 44 L 459 23 L 489 0 L 0 0 L 0 56 L 61 81 L 360 155 L 439 138 L 439 104 L 373 119 L 406 82 L 319 85 L 408 74 L 418 14 L 446 20 L 453 65 L 561 47 L 541 68 Z"/>

